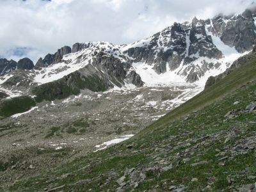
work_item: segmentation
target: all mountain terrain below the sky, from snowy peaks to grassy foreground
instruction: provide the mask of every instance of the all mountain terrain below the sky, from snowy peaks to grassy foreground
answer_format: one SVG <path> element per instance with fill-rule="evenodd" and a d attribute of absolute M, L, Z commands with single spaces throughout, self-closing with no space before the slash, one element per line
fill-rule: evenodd
<path fill-rule="evenodd" d="M 255 44 L 248 9 L 0 59 L 0 191 L 255 191 Z"/>

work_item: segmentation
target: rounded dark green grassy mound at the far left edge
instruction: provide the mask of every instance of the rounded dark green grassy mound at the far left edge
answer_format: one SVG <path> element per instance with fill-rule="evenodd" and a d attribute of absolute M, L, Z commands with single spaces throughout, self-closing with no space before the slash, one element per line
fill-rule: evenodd
<path fill-rule="evenodd" d="M 6 118 L 16 113 L 24 113 L 36 106 L 34 99 L 28 96 L 14 97 L 0 102 L 0 118 Z"/>

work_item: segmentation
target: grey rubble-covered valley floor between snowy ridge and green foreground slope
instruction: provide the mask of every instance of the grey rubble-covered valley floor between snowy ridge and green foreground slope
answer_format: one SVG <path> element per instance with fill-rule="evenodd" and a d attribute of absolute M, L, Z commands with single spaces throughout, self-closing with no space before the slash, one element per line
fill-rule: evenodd
<path fill-rule="evenodd" d="M 8 186 L 97 150 L 95 145 L 136 134 L 200 92 L 176 84 L 94 93 L 42 102 L 0 122 L 0 183 Z"/>

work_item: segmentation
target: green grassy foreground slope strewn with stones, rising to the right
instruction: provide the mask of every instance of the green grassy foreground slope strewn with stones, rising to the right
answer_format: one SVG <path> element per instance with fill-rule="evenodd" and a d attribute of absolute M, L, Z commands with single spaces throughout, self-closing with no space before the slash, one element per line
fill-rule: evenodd
<path fill-rule="evenodd" d="M 244 109 L 255 100 L 255 72 L 256 61 L 251 61 L 163 116 L 131 140 L 38 177 L 17 182 L 10 189 L 38 191 L 65 185 L 61 190 L 115 191 L 118 188 L 116 179 L 132 167 L 147 175 L 135 191 L 154 188 L 166 191 L 171 185 L 179 188 L 180 184 L 184 184 L 187 191 L 206 188 L 229 191 L 241 184 L 253 183 L 256 179 L 249 180 L 247 177 L 256 175 L 254 144 L 249 142 L 256 138 L 255 113 L 241 113 L 232 119 L 224 116 L 232 109 Z M 239 104 L 234 105 L 237 100 Z M 186 118 L 182 118 L 184 116 Z M 134 143 L 132 148 L 127 148 L 129 143 Z M 244 147 L 243 152 L 236 150 L 239 145 Z M 227 158 L 220 160 L 221 157 Z M 161 170 L 161 160 L 163 166 L 172 164 L 173 168 Z M 191 166 L 200 161 L 207 161 L 207 164 Z M 160 169 L 146 171 L 157 166 Z M 116 175 L 108 180 L 111 172 Z M 65 173 L 71 176 L 60 177 Z M 126 177 L 130 180 L 129 175 Z M 194 177 L 198 182 L 191 182 Z M 87 183 L 85 179 L 92 181 Z M 125 189 L 129 191 L 132 188 Z"/>

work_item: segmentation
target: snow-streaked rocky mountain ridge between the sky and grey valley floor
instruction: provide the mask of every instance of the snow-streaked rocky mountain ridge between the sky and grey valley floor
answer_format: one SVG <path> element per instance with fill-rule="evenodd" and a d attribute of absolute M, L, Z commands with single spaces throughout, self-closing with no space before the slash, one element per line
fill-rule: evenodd
<path fill-rule="evenodd" d="M 74 76 L 70 80 L 70 74 L 74 72 L 79 72 L 76 76 L 83 80 L 88 76 L 100 79 L 106 89 L 173 83 L 204 87 L 209 76 L 224 72 L 233 61 L 252 49 L 255 32 L 255 13 L 246 10 L 237 15 L 174 23 L 128 45 L 77 43 L 72 49 L 65 46 L 55 54 L 47 54 L 44 60 L 40 58 L 33 70 L 26 71 L 26 76 L 14 70 L 0 77 L 0 90 L 11 95 L 18 91 L 29 93 L 30 87 L 63 78 L 66 80 L 61 83 L 73 86 Z M 241 39 L 234 39 L 234 35 Z M 20 84 L 17 79 L 28 83 Z"/>

